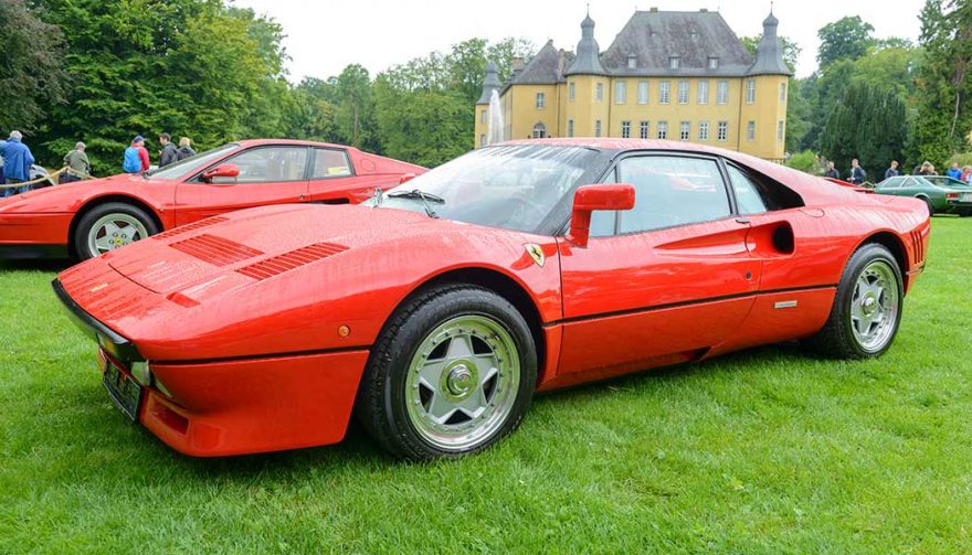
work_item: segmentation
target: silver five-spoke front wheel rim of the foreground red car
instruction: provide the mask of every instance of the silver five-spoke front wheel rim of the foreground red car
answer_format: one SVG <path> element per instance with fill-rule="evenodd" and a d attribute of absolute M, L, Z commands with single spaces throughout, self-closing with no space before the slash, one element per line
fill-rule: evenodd
<path fill-rule="evenodd" d="M 405 378 L 409 420 L 431 445 L 473 448 L 506 423 L 520 380 L 513 337 L 490 317 L 452 318 L 430 332 Z"/>

